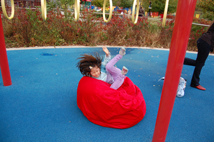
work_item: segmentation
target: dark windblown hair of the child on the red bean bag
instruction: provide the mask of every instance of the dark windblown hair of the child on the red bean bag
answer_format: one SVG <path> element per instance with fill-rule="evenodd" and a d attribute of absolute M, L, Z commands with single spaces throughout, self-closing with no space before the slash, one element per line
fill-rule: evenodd
<path fill-rule="evenodd" d="M 80 59 L 80 61 L 77 63 L 77 68 L 80 70 L 82 75 L 91 77 L 91 69 L 89 66 L 97 66 L 98 68 L 101 68 L 102 58 L 98 53 L 96 53 L 94 56 L 89 54 L 83 54 L 80 56 L 81 57 L 77 58 Z"/>

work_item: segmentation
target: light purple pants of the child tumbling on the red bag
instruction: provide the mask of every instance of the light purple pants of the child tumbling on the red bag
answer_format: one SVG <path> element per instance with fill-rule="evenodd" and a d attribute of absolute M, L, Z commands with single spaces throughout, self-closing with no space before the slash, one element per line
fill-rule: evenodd
<path fill-rule="evenodd" d="M 114 82 L 111 84 L 110 88 L 117 90 L 123 84 L 125 75 L 121 74 L 121 70 L 114 65 L 122 58 L 123 56 L 117 54 L 113 59 L 111 59 L 107 65 L 106 70 L 113 77 Z"/>

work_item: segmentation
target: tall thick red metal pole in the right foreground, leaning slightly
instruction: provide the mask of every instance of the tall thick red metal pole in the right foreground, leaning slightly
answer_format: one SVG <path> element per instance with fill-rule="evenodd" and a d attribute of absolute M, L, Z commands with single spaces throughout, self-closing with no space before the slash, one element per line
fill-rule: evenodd
<path fill-rule="evenodd" d="M 197 0 L 179 0 L 152 142 L 164 142 L 176 98 Z"/>

